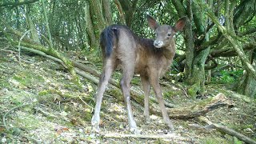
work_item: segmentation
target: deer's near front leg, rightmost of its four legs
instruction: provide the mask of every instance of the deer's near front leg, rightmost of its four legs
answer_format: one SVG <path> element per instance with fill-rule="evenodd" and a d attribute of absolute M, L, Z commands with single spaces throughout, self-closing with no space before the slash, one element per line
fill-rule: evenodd
<path fill-rule="evenodd" d="M 164 104 L 163 98 L 162 98 L 162 90 L 159 84 L 159 77 L 155 75 L 150 76 L 150 83 L 154 88 L 154 93 L 156 94 L 156 97 L 158 98 L 158 103 L 162 112 L 162 118 L 164 122 L 166 122 L 166 125 L 169 126 L 171 131 L 174 131 L 174 126 L 172 122 L 170 121 L 169 115 L 166 111 L 166 106 Z"/>

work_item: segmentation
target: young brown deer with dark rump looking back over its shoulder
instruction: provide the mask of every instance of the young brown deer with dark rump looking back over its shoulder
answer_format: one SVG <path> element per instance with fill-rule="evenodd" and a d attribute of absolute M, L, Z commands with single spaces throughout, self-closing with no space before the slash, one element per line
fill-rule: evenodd
<path fill-rule="evenodd" d="M 94 116 L 91 119 L 92 129 L 96 132 L 99 131 L 102 97 L 110 76 L 118 65 L 122 66 L 120 86 L 126 103 L 130 131 L 139 134 L 130 105 L 130 81 L 134 73 L 140 74 L 142 80 L 145 93 L 144 116 L 146 121 L 150 120 L 149 94 L 151 85 L 158 99 L 164 122 L 170 127 L 170 130 L 174 130 L 162 98 L 159 77 L 165 74 L 173 61 L 175 54 L 174 34 L 183 29 L 186 24 L 186 17 L 180 18 L 175 26 L 160 26 L 150 15 L 147 15 L 147 21 L 150 28 L 155 30 L 155 40 L 140 38 L 127 26 L 112 25 L 102 31 L 100 44 L 104 65 L 98 83 Z"/>

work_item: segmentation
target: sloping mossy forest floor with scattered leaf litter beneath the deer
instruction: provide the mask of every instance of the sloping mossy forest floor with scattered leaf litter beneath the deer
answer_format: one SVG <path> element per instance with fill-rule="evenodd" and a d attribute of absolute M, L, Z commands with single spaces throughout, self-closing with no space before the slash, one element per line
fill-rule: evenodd
<path fill-rule="evenodd" d="M 62 66 L 46 58 L 22 54 L 19 63 L 14 54 L 0 51 L 0 143 L 242 143 L 228 134 L 204 129 L 206 123 L 196 118 L 173 119 L 175 131 L 170 134 L 161 116 L 150 115 L 150 123 L 145 123 L 143 108 L 136 102 L 132 102 L 134 118 L 142 134 L 169 134 L 178 139 L 93 134 L 90 118 L 97 86 L 81 78 L 81 90 L 70 79 Z M 133 87 L 141 90 L 139 79 L 134 79 Z M 206 85 L 205 94 L 190 98 L 184 84 L 167 83 L 162 85 L 166 101 L 181 107 L 225 94 L 234 107 L 212 110 L 206 118 L 256 140 L 256 103 L 250 98 L 228 90 L 224 84 Z M 154 96 L 152 91 L 150 94 Z M 102 133 L 130 134 L 124 103 L 108 94 L 103 97 L 101 119 Z"/>

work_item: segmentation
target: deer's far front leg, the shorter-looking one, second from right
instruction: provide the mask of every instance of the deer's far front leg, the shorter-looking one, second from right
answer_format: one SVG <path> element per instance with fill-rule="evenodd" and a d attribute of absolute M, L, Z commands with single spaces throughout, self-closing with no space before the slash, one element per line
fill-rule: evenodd
<path fill-rule="evenodd" d="M 146 122 L 150 122 L 150 106 L 149 106 L 149 95 L 150 95 L 150 80 L 147 76 L 142 76 L 142 86 L 144 90 L 144 117 Z"/>

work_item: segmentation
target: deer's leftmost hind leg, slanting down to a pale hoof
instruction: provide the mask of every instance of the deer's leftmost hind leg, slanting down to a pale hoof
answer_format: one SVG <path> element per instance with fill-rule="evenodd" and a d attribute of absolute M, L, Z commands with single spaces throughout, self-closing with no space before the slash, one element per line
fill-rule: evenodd
<path fill-rule="evenodd" d="M 91 119 L 92 130 L 99 132 L 99 121 L 100 121 L 100 109 L 102 105 L 102 97 L 106 90 L 107 83 L 110 76 L 115 68 L 115 62 L 113 59 L 106 59 L 106 64 L 103 67 L 101 77 L 98 82 L 98 89 L 96 93 L 96 106 L 94 110 L 94 116 Z"/>

